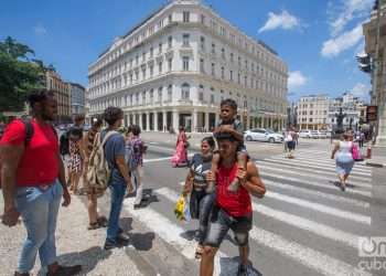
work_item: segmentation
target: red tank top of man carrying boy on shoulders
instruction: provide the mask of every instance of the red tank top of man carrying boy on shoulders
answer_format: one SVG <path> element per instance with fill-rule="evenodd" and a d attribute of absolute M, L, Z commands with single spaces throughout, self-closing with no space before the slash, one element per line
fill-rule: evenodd
<path fill-rule="evenodd" d="M 237 163 L 227 169 L 218 167 L 217 179 L 217 205 L 232 216 L 246 216 L 251 213 L 250 195 L 244 187 L 239 187 L 237 192 L 229 192 L 228 185 L 235 179 Z"/>

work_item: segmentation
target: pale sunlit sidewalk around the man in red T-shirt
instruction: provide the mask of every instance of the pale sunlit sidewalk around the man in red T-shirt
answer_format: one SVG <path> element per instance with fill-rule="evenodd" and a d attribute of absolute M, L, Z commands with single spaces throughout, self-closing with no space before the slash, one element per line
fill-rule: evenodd
<path fill-rule="evenodd" d="M 106 229 L 87 231 L 88 216 L 82 198 L 72 197 L 68 208 L 61 208 L 57 219 L 56 247 L 61 264 L 81 264 L 78 275 L 142 275 L 133 263 L 128 250 L 104 251 Z M 2 212 L 3 199 L 0 195 Z M 19 253 L 25 238 L 22 224 L 7 227 L 0 224 L 0 276 L 13 275 Z M 45 275 L 39 256 L 32 275 Z"/>

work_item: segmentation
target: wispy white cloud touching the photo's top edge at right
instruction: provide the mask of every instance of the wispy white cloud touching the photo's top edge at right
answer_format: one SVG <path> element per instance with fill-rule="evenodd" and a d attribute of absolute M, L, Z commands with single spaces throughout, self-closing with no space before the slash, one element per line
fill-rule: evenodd
<path fill-rule="evenodd" d="M 344 28 L 355 19 L 368 17 L 374 0 L 341 0 L 340 3 L 329 2 L 328 15 L 330 18 L 331 35 L 339 35 Z"/>

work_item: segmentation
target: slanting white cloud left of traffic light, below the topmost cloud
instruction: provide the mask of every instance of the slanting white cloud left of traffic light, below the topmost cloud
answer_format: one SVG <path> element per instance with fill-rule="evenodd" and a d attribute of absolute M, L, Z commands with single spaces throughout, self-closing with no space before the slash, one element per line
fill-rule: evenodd
<path fill-rule="evenodd" d="M 355 46 L 361 40 L 363 40 L 362 22 L 353 30 L 344 32 L 337 38 L 325 41 L 321 54 L 324 57 L 336 56 L 341 52 Z"/>

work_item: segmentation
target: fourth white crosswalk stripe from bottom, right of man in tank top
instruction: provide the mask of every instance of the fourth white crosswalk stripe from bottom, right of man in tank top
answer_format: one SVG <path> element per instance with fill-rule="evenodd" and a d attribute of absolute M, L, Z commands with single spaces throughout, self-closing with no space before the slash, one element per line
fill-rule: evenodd
<path fill-rule="evenodd" d="M 340 197 L 340 195 L 335 195 L 335 194 L 331 194 L 331 193 L 313 191 L 313 190 L 310 190 L 310 189 L 296 187 L 296 185 L 290 185 L 290 184 L 286 184 L 286 183 L 282 183 L 282 182 L 271 181 L 271 180 L 267 180 L 267 179 L 264 179 L 264 183 L 266 185 L 269 185 L 269 187 L 276 187 L 276 188 L 283 189 L 283 190 L 291 190 L 291 191 L 300 192 L 300 193 L 303 193 L 303 194 L 315 195 L 315 197 L 319 197 L 319 198 L 324 198 L 324 199 L 333 200 L 333 201 L 336 201 L 336 202 L 350 203 L 350 204 L 353 204 L 353 205 L 356 205 L 356 206 L 361 206 L 361 208 L 365 208 L 365 209 L 369 208 L 369 203 L 368 202 L 364 202 L 364 201 L 361 201 L 361 200 L 354 200 L 354 199 L 344 198 L 344 197 Z"/>

